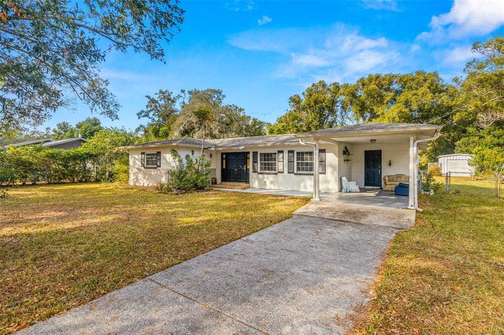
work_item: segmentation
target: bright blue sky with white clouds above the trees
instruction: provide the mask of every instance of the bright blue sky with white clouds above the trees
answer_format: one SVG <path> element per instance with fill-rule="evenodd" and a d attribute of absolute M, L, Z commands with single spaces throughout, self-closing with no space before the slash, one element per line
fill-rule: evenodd
<path fill-rule="evenodd" d="M 106 126 L 135 129 L 145 95 L 159 89 L 216 88 L 226 103 L 274 122 L 288 98 L 319 79 L 353 82 L 369 73 L 438 71 L 461 75 L 470 47 L 504 25 L 500 1 L 181 1 L 180 34 L 166 64 L 113 52 L 102 76 L 122 105 Z M 91 116 L 85 105 L 58 111 L 41 127 Z"/>

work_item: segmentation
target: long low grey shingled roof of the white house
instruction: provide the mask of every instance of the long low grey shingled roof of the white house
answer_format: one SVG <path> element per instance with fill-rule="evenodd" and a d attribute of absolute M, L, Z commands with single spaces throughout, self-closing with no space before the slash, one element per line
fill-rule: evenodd
<path fill-rule="evenodd" d="M 300 138 L 319 137 L 319 136 L 334 136 L 347 134 L 361 134 L 362 132 L 380 133 L 393 131 L 418 131 L 418 130 L 439 130 L 442 126 L 432 124 L 411 124 L 411 123 L 363 123 L 350 126 L 328 128 L 317 131 L 310 131 L 297 134 L 285 135 L 268 135 L 268 136 L 251 136 L 251 137 L 236 137 L 223 139 L 205 140 L 206 148 L 238 148 L 241 146 L 263 146 L 275 144 L 297 144 Z M 131 149 L 138 147 L 154 147 L 164 145 L 182 145 L 182 146 L 201 146 L 202 139 L 181 137 L 163 141 L 140 143 L 135 145 L 121 146 L 118 149 Z"/>

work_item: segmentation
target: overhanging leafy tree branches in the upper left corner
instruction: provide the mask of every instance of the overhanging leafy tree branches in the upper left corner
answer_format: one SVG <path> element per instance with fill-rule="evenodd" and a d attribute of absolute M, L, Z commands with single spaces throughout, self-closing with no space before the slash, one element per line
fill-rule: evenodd
<path fill-rule="evenodd" d="M 82 100 L 117 118 L 119 104 L 99 75 L 112 49 L 164 60 L 179 30 L 178 0 L 5 1 L 0 4 L 0 133 L 39 125 Z"/>

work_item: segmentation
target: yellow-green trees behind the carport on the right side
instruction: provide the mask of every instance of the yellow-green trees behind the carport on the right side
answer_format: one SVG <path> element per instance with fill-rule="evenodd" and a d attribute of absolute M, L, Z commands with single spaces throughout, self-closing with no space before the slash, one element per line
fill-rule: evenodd
<path fill-rule="evenodd" d="M 376 73 L 355 83 L 313 83 L 289 98 L 289 110 L 270 134 L 297 133 L 365 122 L 443 125 L 423 162 L 440 154 L 470 153 L 478 171 L 504 164 L 504 38 L 472 47 L 464 77 L 446 81 L 437 72 Z"/>

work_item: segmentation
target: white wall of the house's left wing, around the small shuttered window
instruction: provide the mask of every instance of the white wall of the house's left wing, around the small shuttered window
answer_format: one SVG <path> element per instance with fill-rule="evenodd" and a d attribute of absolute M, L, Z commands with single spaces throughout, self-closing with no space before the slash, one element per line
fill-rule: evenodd
<path fill-rule="evenodd" d="M 184 158 L 187 154 L 195 158 L 200 156 L 200 149 L 196 147 L 163 146 L 130 149 L 130 185 L 155 186 L 159 182 L 166 183 L 168 180 L 168 171 L 174 164 L 170 153 L 171 149 L 177 150 L 182 158 Z M 146 169 L 145 167 L 142 167 L 142 152 L 150 153 L 157 151 L 161 151 L 161 167 L 157 167 L 157 169 Z M 209 157 L 210 152 L 206 151 L 205 154 L 207 159 L 212 162 L 210 169 L 212 169 L 213 174 L 215 174 L 215 153 L 212 153 L 212 158 Z"/>

